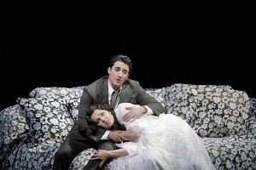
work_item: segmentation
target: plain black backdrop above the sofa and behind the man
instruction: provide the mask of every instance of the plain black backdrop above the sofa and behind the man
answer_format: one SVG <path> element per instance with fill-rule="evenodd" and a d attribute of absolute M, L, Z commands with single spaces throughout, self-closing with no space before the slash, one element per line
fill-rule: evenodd
<path fill-rule="evenodd" d="M 247 1 L 26 1 L 1 5 L 0 110 L 37 87 L 84 86 L 113 54 L 144 88 L 230 85 L 256 97 L 255 8 Z"/>

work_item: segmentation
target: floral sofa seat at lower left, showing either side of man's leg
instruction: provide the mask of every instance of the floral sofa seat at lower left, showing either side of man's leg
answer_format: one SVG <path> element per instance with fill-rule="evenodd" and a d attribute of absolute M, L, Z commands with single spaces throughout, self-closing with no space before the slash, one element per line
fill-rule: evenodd
<path fill-rule="evenodd" d="M 34 144 L 22 142 L 15 147 L 9 158 L 4 162 L 3 169 L 52 169 L 55 152 L 61 144 Z M 76 156 L 69 170 L 83 169 L 96 150 L 83 150 Z"/>

